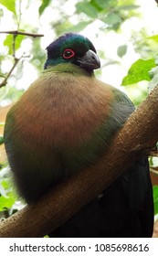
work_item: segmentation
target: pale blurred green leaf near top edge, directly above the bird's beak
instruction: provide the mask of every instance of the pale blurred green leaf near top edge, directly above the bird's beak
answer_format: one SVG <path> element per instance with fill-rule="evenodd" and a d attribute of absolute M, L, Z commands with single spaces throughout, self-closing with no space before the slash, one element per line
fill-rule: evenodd
<path fill-rule="evenodd" d="M 76 8 L 77 8 L 78 14 L 84 13 L 87 16 L 90 16 L 91 18 L 98 17 L 97 9 L 93 5 L 90 5 L 90 3 L 86 3 L 86 2 L 77 3 Z"/>

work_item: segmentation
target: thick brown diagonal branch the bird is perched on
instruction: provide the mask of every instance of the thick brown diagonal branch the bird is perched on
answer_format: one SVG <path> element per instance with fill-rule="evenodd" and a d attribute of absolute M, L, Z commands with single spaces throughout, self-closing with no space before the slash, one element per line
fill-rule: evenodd
<path fill-rule="evenodd" d="M 42 237 L 108 187 L 158 140 L 158 87 L 132 113 L 96 165 L 54 187 L 37 204 L 26 206 L 0 224 L 0 237 Z"/>

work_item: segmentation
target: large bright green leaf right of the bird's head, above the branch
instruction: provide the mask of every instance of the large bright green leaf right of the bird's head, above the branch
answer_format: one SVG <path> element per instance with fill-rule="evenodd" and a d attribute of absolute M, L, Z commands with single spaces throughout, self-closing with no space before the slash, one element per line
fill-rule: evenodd
<path fill-rule="evenodd" d="M 133 84 L 141 80 L 151 80 L 149 71 L 155 67 L 154 59 L 138 59 L 128 71 L 128 75 L 123 78 L 121 85 Z"/>

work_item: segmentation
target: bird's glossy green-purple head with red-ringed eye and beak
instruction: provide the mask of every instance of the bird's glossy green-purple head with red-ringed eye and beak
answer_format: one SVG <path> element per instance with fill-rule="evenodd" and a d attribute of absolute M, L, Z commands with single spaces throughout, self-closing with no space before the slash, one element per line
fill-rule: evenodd
<path fill-rule="evenodd" d="M 68 33 L 58 37 L 47 47 L 47 61 L 44 69 L 61 63 L 71 63 L 90 73 L 100 68 L 96 49 L 87 37 Z"/>

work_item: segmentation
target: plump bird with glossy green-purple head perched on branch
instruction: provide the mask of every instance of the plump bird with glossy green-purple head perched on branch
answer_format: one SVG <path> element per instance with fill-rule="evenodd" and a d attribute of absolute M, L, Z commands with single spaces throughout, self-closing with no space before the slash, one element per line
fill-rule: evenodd
<path fill-rule="evenodd" d="M 98 80 L 95 69 L 100 59 L 90 39 L 66 33 L 48 45 L 44 70 L 7 113 L 5 150 L 26 203 L 97 163 L 134 111 L 128 96 Z M 152 234 L 153 188 L 144 155 L 50 236 Z"/>

